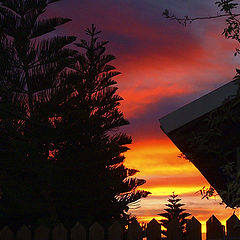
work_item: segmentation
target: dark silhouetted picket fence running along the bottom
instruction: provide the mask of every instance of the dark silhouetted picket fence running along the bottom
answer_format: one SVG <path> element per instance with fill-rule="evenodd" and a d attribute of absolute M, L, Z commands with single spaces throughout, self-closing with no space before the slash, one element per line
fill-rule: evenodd
<path fill-rule="evenodd" d="M 207 240 L 240 240 L 240 220 L 232 215 L 226 223 L 227 234 L 224 226 L 213 215 L 206 222 Z M 85 229 L 77 223 L 72 229 L 66 229 L 63 224 L 58 224 L 53 229 L 40 225 L 31 231 L 23 225 L 17 232 L 13 232 L 8 226 L 0 231 L 0 240 L 182 240 L 180 226 L 176 219 L 169 224 L 167 238 L 161 236 L 161 225 L 152 219 L 147 225 L 140 225 L 137 220 L 132 221 L 127 228 L 123 228 L 118 222 L 104 229 L 99 223 L 94 223 Z M 187 223 L 186 240 L 201 240 L 201 223 L 195 218 Z"/>

